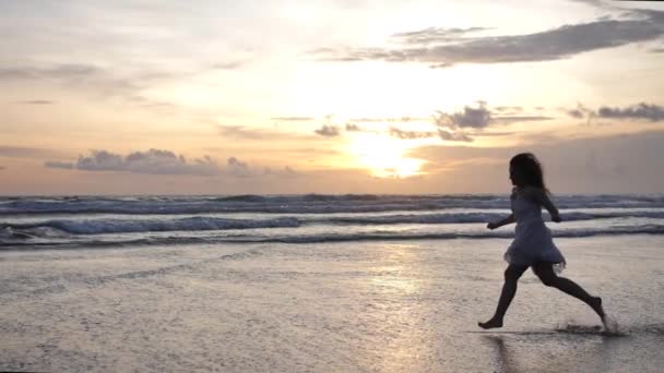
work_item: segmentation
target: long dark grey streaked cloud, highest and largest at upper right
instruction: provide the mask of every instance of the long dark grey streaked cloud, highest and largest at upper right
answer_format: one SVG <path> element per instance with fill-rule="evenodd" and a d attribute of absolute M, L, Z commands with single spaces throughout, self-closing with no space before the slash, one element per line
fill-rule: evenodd
<path fill-rule="evenodd" d="M 633 43 L 649 41 L 664 36 L 661 11 L 631 11 L 630 19 L 597 19 L 588 23 L 562 25 L 553 29 L 525 35 L 459 37 L 427 28 L 404 33 L 416 35 L 403 48 L 358 48 L 346 51 L 315 51 L 320 60 L 391 62 L 423 62 L 434 67 L 455 63 L 500 63 L 553 61 L 604 48 L 615 48 Z M 442 29 L 444 31 L 444 29 Z M 415 40 L 424 40 L 419 46 Z M 432 44 L 432 45 L 431 45 Z"/>

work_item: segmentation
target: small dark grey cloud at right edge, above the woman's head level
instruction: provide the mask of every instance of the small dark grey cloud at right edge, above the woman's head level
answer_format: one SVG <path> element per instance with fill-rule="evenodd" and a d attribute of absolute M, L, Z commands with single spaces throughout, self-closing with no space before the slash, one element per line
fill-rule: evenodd
<path fill-rule="evenodd" d="M 627 119 L 627 120 L 647 120 L 659 122 L 664 120 L 664 107 L 655 104 L 640 103 L 626 108 L 612 108 L 602 106 L 598 110 L 592 110 L 578 104 L 576 109 L 567 110 L 567 113 L 577 119 L 588 119 L 588 123 L 593 118 L 604 119 Z"/>

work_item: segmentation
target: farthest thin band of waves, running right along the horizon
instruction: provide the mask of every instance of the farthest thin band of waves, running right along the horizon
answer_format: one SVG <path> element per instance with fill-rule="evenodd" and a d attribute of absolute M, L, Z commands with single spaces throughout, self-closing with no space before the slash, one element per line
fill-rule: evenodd
<path fill-rule="evenodd" d="M 657 208 L 662 195 L 556 195 L 559 208 Z M 507 195 L 305 194 L 236 196 L 0 197 L 0 215 L 25 214 L 333 214 L 509 208 Z"/>

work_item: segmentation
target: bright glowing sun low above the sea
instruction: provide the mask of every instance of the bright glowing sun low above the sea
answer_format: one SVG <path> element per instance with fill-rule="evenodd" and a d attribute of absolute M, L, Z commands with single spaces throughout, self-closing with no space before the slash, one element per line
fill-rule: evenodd
<path fill-rule="evenodd" d="M 408 178 L 423 173 L 423 159 L 408 158 L 404 154 L 412 147 L 404 140 L 384 134 L 358 133 L 349 143 L 349 153 L 356 166 L 367 168 L 378 178 Z"/>

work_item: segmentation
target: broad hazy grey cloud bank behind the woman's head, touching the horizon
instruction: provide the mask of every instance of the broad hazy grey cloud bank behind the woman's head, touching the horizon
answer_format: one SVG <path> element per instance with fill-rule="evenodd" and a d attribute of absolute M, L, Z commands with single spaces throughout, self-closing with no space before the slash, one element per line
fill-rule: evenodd
<path fill-rule="evenodd" d="M 661 193 L 664 131 L 576 140 L 538 141 L 508 147 L 451 144 L 412 149 L 427 161 L 420 190 L 447 193 L 507 193 L 509 159 L 533 152 L 554 193 Z"/>

